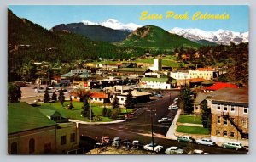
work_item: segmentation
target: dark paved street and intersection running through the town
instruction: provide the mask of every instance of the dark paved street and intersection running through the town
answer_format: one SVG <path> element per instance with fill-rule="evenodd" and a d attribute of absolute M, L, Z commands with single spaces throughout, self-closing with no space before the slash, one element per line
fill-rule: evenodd
<path fill-rule="evenodd" d="M 151 119 L 149 109 L 155 110 L 153 114 L 154 123 L 154 142 L 162 145 L 164 149 L 171 146 L 179 146 L 187 149 L 202 149 L 209 154 L 247 154 L 246 151 L 236 151 L 232 149 L 224 149 L 219 147 L 207 147 L 197 144 L 187 144 L 170 140 L 166 137 L 168 125 L 161 125 L 157 122 L 162 117 L 166 117 L 170 112 L 167 109 L 173 98 L 177 97 L 178 91 L 172 91 L 172 99 L 170 99 L 169 92 L 165 92 L 163 98 L 149 102 L 137 104 L 138 107 L 145 109 L 145 111 L 137 116 L 136 119 L 111 125 L 80 125 L 79 134 L 89 136 L 93 139 L 100 139 L 103 135 L 108 135 L 110 138 L 120 137 L 121 139 L 139 140 L 143 144 L 152 141 L 151 138 Z M 172 116 L 176 111 L 172 110 Z M 170 114 L 169 114 L 170 115 Z"/>

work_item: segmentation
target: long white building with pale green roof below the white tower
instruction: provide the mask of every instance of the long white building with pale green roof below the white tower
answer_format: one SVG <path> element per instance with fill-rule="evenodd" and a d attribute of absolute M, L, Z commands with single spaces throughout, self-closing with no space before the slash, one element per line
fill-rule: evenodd
<path fill-rule="evenodd" d="M 169 78 L 150 78 L 143 77 L 140 82 L 140 86 L 143 88 L 152 89 L 171 89 L 171 83 Z"/>

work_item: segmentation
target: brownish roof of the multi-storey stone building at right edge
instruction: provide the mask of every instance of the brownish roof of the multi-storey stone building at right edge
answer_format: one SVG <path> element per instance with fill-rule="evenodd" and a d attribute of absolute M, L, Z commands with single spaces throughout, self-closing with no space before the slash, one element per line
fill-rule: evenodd
<path fill-rule="evenodd" d="M 224 87 L 211 93 L 212 97 L 208 98 L 213 101 L 224 101 L 231 103 L 249 103 L 248 89 Z"/>

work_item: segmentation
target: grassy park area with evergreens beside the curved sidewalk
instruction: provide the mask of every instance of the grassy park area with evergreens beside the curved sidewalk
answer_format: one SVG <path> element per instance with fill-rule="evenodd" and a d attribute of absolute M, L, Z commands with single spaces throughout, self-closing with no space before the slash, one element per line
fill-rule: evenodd
<path fill-rule="evenodd" d="M 83 102 L 73 102 L 73 109 L 68 109 L 67 105 L 69 105 L 70 102 L 64 102 L 63 105 L 61 103 L 42 103 L 42 105 L 38 108 L 40 109 L 53 109 L 57 110 L 63 117 L 72 119 L 72 120 L 82 120 L 82 121 L 90 121 L 90 117 L 84 117 L 81 115 L 81 112 L 83 111 Z M 113 121 L 111 118 L 111 112 L 113 112 L 113 108 L 107 107 L 106 109 L 106 115 L 103 116 L 103 109 L 104 106 L 102 104 L 96 104 L 91 103 L 90 105 L 91 110 L 93 112 L 94 117 L 91 121 L 101 121 L 101 122 L 107 122 L 107 121 Z M 124 119 L 126 115 L 126 109 L 125 108 L 119 108 L 120 114 L 118 115 L 119 119 Z M 133 109 L 127 109 L 127 113 L 130 113 Z"/>

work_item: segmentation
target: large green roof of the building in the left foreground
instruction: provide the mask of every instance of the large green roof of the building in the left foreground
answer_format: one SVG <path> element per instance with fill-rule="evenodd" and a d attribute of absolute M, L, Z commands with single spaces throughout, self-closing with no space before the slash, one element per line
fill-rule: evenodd
<path fill-rule="evenodd" d="M 8 103 L 8 134 L 56 125 L 28 103 Z"/>

